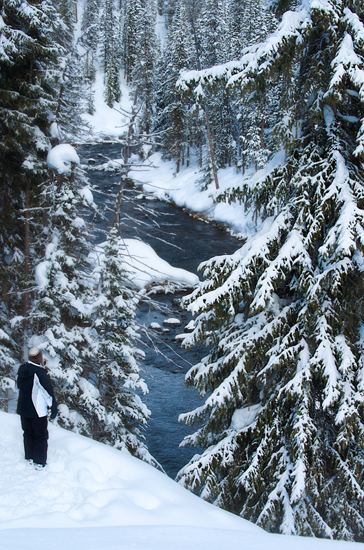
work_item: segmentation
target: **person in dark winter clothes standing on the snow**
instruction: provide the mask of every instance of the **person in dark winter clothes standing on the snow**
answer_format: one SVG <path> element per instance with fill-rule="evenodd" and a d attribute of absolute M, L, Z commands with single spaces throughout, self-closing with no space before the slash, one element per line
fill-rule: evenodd
<path fill-rule="evenodd" d="M 17 414 L 23 428 L 25 460 L 34 463 L 36 470 L 41 470 L 47 463 L 47 408 L 51 408 L 50 418 L 55 419 L 57 402 L 38 348 L 30 349 L 28 361 L 19 366 L 17 386 Z"/>

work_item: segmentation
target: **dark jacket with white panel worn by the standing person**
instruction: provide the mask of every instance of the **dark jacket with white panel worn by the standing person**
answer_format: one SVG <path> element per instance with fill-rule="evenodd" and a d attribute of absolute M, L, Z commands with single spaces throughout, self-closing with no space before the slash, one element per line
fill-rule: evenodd
<path fill-rule="evenodd" d="M 19 388 L 17 413 L 22 417 L 47 416 L 47 407 L 56 410 L 52 383 L 43 366 L 32 361 L 19 366 L 17 386 Z"/>

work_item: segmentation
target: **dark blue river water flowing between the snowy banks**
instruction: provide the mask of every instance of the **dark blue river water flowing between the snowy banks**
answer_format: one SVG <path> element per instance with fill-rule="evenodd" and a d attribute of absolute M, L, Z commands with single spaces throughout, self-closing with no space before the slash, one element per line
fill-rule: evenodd
<path fill-rule="evenodd" d="M 82 146 L 78 148 L 78 154 L 83 164 L 87 164 L 89 158 L 101 164 L 108 158 L 121 156 L 118 144 Z M 119 178 L 115 173 L 99 170 L 89 170 L 88 176 L 94 189 L 94 200 L 105 215 L 105 218 L 99 216 L 95 220 L 96 228 L 100 230 L 100 242 L 105 240 L 103 232 L 110 226 Z M 137 237 L 148 243 L 173 267 L 197 273 L 202 261 L 220 254 L 231 254 L 239 248 L 236 239 L 212 223 L 194 219 L 167 202 L 151 200 L 151 197 L 137 199 L 138 196 L 140 190 L 125 190 L 122 233 L 127 238 Z M 191 319 L 179 305 L 184 294 L 159 294 L 153 297 L 156 307 L 148 303 L 141 303 L 138 307 L 140 327 L 149 327 L 151 322 L 162 326 L 163 321 L 171 317 L 181 322 L 178 326 L 168 327 L 169 332 L 149 331 L 153 341 L 142 328 L 142 341 L 139 342 L 145 353 L 142 376 L 149 387 L 149 394 L 143 397 L 143 401 L 151 410 L 145 432 L 146 443 L 151 454 L 173 478 L 197 452 L 195 448 L 179 448 L 184 436 L 193 430 L 179 423 L 178 415 L 201 404 L 195 389 L 184 384 L 184 375 L 207 353 L 203 347 L 181 349 L 180 341 L 175 339 L 177 334 L 184 332 Z"/>

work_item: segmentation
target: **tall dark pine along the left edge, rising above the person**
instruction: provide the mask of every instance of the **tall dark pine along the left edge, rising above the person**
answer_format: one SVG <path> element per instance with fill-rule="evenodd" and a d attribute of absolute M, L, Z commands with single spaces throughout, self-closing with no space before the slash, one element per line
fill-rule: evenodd
<path fill-rule="evenodd" d="M 3 1 L 0 55 L 0 279 L 6 377 L 27 338 L 32 287 L 32 207 L 47 177 L 50 113 L 61 47 L 58 14 L 47 1 Z M 39 212 L 39 211 L 38 211 Z M 10 325 L 10 319 L 19 320 Z M 4 351 L 5 350 L 5 351 Z"/>

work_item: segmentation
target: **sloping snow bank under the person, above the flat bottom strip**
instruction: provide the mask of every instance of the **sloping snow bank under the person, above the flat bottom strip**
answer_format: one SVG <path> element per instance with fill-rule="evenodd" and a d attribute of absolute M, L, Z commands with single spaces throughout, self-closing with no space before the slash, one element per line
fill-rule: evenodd
<path fill-rule="evenodd" d="M 130 454 L 52 423 L 48 463 L 37 472 L 23 459 L 20 417 L 0 412 L 0 427 L 0 529 L 189 525 L 261 531 Z"/>

